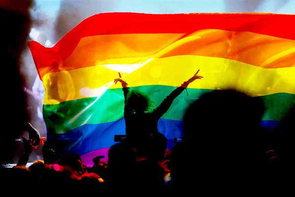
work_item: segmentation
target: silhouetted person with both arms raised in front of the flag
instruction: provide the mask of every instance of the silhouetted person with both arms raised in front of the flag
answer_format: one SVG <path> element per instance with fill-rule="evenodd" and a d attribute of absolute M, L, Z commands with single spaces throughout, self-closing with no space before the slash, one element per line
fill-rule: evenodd
<path fill-rule="evenodd" d="M 199 70 L 189 80 L 183 82 L 181 86 L 175 89 L 169 96 L 167 96 L 159 106 L 149 110 L 152 102 L 148 95 L 132 90 L 128 87 L 126 81 L 121 78 L 115 79 L 115 84 L 120 82 L 123 87 L 125 106 L 124 118 L 126 124 L 126 139 L 134 148 L 137 148 L 138 154 L 142 147 L 145 146 L 145 141 L 148 136 L 154 132 L 158 132 L 158 121 L 168 111 L 173 103 L 173 100 L 196 79 L 203 77 L 198 75 Z"/>

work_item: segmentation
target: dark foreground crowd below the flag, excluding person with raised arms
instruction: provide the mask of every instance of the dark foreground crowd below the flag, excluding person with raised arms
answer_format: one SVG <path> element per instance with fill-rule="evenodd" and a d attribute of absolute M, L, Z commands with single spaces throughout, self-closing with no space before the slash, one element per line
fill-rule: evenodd
<path fill-rule="evenodd" d="M 33 144 L 30 139 L 24 140 L 25 153 L 18 164 L 1 169 L 2 183 L 7 187 L 19 184 L 21 188 L 28 187 L 28 181 L 36 188 L 54 183 L 50 192 L 64 189 L 64 183 L 91 191 L 249 189 L 291 183 L 286 177 L 292 178 L 294 168 L 291 123 L 295 108 L 272 133 L 275 137 L 270 145 L 269 131 L 260 125 L 264 111 L 260 98 L 235 90 L 206 93 L 187 108 L 183 139 L 171 150 L 166 150 L 165 135 L 155 131 L 138 139 L 145 141 L 141 147 L 145 151 L 139 155 L 127 136 L 111 147 L 108 162 L 97 157 L 92 167 L 72 153 L 56 161 L 46 158 L 50 154 L 44 155 L 47 162 L 36 161 L 26 167 Z"/>

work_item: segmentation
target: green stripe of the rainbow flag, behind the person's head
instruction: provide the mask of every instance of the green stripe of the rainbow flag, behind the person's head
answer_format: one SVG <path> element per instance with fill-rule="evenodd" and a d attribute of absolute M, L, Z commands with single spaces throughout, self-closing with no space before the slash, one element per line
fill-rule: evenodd
<path fill-rule="evenodd" d="M 131 88 L 147 93 L 154 101 L 153 107 L 161 103 L 176 87 L 171 86 L 140 86 Z M 183 91 L 162 118 L 182 120 L 183 113 L 190 103 L 201 95 L 212 90 L 188 89 Z M 261 97 L 266 105 L 263 120 L 280 121 L 295 103 L 295 95 L 278 93 Z M 89 106 L 91 105 L 91 106 Z M 89 106 L 89 107 L 88 107 Z M 124 97 L 122 89 L 109 89 L 101 98 L 86 98 L 61 102 L 55 105 L 44 105 L 43 113 L 47 130 L 64 133 L 83 124 L 100 124 L 117 121 L 123 118 Z"/>

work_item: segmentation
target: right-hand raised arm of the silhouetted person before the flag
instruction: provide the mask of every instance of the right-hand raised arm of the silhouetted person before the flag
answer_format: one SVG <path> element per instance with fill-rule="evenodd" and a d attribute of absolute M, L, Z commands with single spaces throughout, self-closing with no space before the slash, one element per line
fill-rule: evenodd
<path fill-rule="evenodd" d="M 172 105 L 174 99 L 176 99 L 178 97 L 178 95 L 180 95 L 180 93 L 182 93 L 182 91 L 187 88 L 187 86 L 192 83 L 193 81 L 195 81 L 196 79 L 202 79 L 202 76 L 198 75 L 198 72 L 200 70 L 198 70 L 196 72 L 196 74 L 194 74 L 193 77 L 191 77 L 189 80 L 183 82 L 181 84 L 181 86 L 179 86 L 177 89 L 175 89 L 174 91 L 172 91 L 172 93 L 170 95 L 168 95 L 162 102 L 161 104 L 156 107 L 153 111 L 152 114 L 153 116 L 155 116 L 156 118 L 161 118 L 170 108 L 170 106 Z"/>

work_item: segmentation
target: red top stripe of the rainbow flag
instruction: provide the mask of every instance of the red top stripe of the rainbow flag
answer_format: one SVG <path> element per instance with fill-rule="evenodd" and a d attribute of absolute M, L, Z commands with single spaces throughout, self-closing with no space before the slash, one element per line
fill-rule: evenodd
<path fill-rule="evenodd" d="M 141 14 L 101 13 L 91 16 L 53 48 L 29 42 L 37 68 L 53 66 L 66 59 L 86 36 L 123 33 L 192 33 L 202 29 L 253 32 L 295 40 L 295 15 L 255 13 Z"/>

